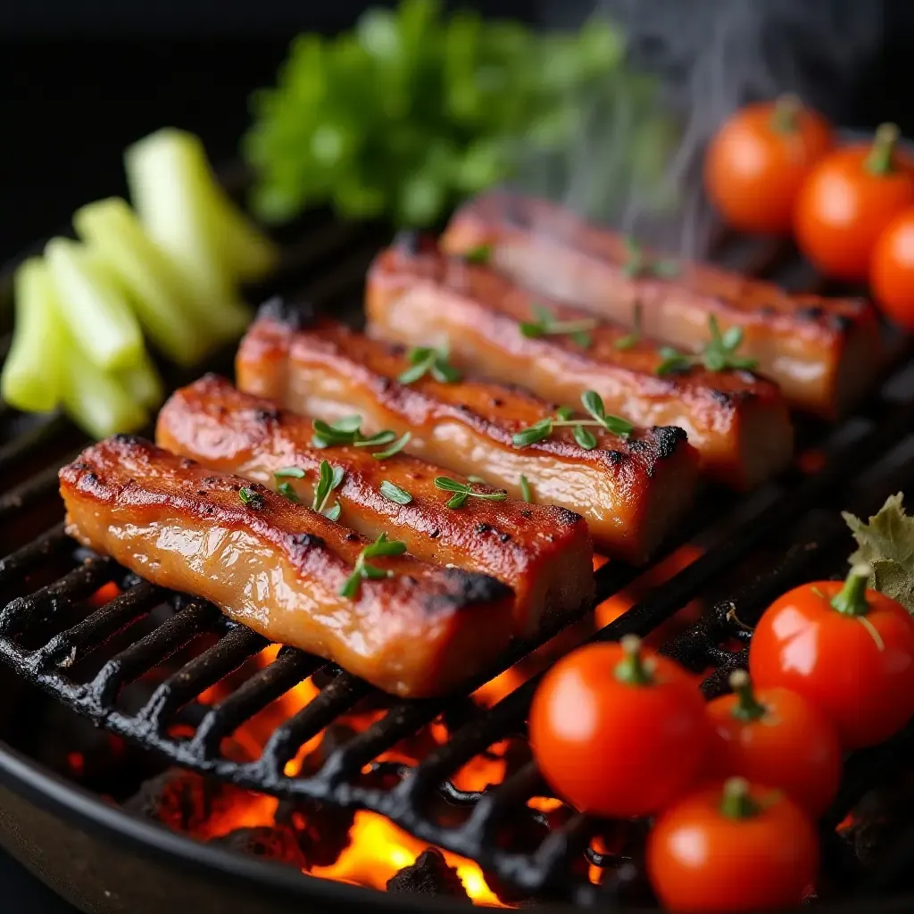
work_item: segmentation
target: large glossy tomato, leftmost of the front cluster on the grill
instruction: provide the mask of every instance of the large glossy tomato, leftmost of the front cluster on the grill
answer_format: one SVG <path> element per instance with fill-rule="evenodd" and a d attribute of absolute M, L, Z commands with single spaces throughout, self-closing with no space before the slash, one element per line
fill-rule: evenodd
<path fill-rule="evenodd" d="M 710 728 L 695 680 L 634 636 L 560 660 L 530 708 L 539 770 L 581 812 L 648 815 L 694 781 Z"/>

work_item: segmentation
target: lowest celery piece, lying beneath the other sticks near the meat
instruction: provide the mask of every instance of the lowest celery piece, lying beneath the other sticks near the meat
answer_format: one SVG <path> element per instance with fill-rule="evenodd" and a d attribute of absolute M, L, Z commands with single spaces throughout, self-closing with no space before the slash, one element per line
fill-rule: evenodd
<path fill-rule="evenodd" d="M 70 419 L 95 439 L 142 429 L 149 419 L 146 408 L 133 399 L 118 377 L 95 365 L 75 340 L 70 343 L 62 390 Z"/>

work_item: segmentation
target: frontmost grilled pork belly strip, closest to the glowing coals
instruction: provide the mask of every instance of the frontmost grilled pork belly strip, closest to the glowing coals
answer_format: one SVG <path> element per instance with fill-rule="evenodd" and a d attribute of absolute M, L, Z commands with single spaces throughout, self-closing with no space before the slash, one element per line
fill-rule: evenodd
<path fill-rule="evenodd" d="M 250 504 L 239 495 L 249 486 Z M 504 650 L 511 590 L 410 556 L 339 590 L 367 539 L 238 476 L 117 436 L 60 471 L 67 531 L 155 584 L 212 600 L 273 641 L 400 696 L 452 690 Z"/>

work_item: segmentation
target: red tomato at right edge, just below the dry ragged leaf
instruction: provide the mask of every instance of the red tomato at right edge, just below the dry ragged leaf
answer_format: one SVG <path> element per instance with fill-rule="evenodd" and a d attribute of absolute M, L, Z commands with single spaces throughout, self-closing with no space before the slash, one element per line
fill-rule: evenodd
<path fill-rule="evenodd" d="M 749 645 L 758 688 L 781 685 L 831 718 L 845 749 L 890 737 L 914 713 L 914 620 L 895 600 L 866 590 L 870 569 L 844 584 L 790 590 L 762 615 Z"/>

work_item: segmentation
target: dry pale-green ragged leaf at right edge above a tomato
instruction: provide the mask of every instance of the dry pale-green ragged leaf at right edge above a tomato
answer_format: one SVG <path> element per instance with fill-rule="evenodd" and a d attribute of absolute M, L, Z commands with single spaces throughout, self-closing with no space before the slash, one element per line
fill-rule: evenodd
<path fill-rule="evenodd" d="M 842 517 L 857 543 L 851 565 L 868 565 L 869 586 L 914 615 L 914 517 L 905 513 L 904 498 L 900 492 L 890 495 L 866 524 L 847 511 Z"/>

